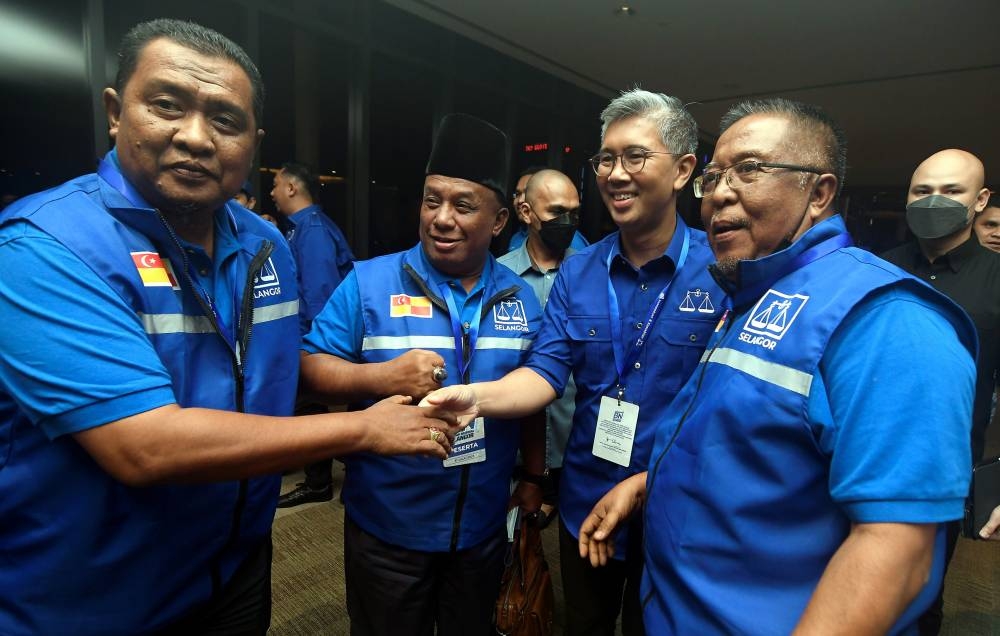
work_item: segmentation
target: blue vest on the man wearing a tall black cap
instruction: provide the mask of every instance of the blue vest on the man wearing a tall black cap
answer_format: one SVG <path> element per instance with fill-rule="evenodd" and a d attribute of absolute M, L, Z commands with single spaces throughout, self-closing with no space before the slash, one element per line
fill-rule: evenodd
<path fill-rule="evenodd" d="M 497 380 L 520 366 L 541 321 L 531 289 L 492 263 L 479 337 L 466 377 L 458 377 L 448 306 L 428 282 L 420 249 L 355 263 L 365 325 L 361 362 L 427 349 L 447 361 L 445 385 Z M 394 299 L 398 304 L 403 295 L 410 298 L 409 308 L 395 310 L 394 317 Z M 487 419 L 485 431 L 486 461 L 461 467 L 445 468 L 429 457 L 346 457 L 347 514 L 378 539 L 423 552 L 463 550 L 495 536 L 504 526 L 520 425 Z"/>

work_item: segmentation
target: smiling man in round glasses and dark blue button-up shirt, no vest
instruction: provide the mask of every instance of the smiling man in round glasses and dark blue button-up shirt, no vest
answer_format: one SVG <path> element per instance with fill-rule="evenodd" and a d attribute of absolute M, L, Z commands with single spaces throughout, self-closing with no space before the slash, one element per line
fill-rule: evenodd
<path fill-rule="evenodd" d="M 619 533 L 600 568 L 581 558 L 577 530 L 609 489 L 646 470 L 653 424 L 697 365 L 723 302 L 705 234 L 677 214 L 696 163 L 694 118 L 677 99 L 636 89 L 612 100 L 601 121 L 591 164 L 619 231 L 563 262 L 523 368 L 428 396 L 457 412 L 511 417 L 549 404 L 572 373 L 576 411 L 559 491 L 571 636 L 613 634 L 619 613 L 625 634 L 644 633 L 641 525 Z"/>

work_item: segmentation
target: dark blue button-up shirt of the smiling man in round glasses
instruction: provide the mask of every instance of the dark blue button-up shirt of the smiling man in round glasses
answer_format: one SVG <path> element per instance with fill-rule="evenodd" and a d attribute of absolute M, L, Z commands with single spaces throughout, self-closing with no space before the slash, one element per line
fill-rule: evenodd
<path fill-rule="evenodd" d="M 686 231 L 690 235 L 687 260 L 676 270 Z M 570 373 L 576 381 L 576 412 L 559 494 L 560 514 L 574 535 L 600 497 L 646 469 L 653 424 L 697 366 L 722 312 L 723 293 L 707 269 L 714 260 L 704 232 L 688 230 L 678 217 L 664 254 L 640 268 L 622 256 L 617 232 L 563 262 L 526 366 L 557 394 L 562 393 Z M 625 342 L 613 342 L 611 335 L 609 275 Z M 667 283 L 670 287 L 659 319 L 622 383 L 624 399 L 639 406 L 639 421 L 631 463 L 619 466 L 591 452 L 601 398 L 618 393 L 613 347 L 624 358 Z M 616 558 L 624 558 L 626 534 L 618 535 Z"/>

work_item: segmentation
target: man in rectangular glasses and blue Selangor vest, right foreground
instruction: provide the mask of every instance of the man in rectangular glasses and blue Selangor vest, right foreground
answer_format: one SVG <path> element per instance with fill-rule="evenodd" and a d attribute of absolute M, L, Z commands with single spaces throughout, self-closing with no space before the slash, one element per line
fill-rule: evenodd
<path fill-rule="evenodd" d="M 969 482 L 975 331 L 851 247 L 843 134 L 784 99 L 734 106 L 695 182 L 732 311 L 657 424 L 648 474 L 580 530 L 601 563 L 640 506 L 655 634 L 910 633 Z"/>

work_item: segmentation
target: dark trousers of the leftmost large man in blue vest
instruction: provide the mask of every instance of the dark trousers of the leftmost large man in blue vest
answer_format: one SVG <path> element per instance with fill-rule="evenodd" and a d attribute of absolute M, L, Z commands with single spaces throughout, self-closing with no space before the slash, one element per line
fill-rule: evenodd
<path fill-rule="evenodd" d="M 262 636 L 271 626 L 271 537 L 252 551 L 208 603 L 159 636 Z"/>

